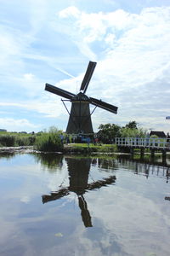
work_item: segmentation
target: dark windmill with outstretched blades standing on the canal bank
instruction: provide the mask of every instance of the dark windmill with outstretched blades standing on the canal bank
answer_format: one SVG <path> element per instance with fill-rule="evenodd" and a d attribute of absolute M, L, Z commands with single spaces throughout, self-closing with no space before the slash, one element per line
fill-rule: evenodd
<path fill-rule="evenodd" d="M 96 67 L 96 64 L 96 62 L 89 61 L 87 71 L 82 80 L 80 91 L 77 95 L 67 90 L 60 89 L 51 84 L 46 84 L 45 86 L 45 90 L 48 90 L 49 92 L 52 92 L 56 95 L 62 96 L 67 99 L 65 101 L 71 102 L 71 112 L 69 112 L 65 106 L 67 112 L 70 115 L 68 125 L 66 128 L 66 133 L 68 134 L 93 134 L 94 131 L 92 126 L 91 115 L 92 113 L 94 113 L 94 110 L 97 107 L 103 108 L 107 111 L 110 111 L 111 113 L 117 113 L 116 106 L 113 106 L 109 103 L 102 102 L 101 100 L 85 95 L 88 89 L 90 79 L 92 78 L 92 75 L 94 73 L 94 68 Z M 64 100 L 62 100 L 62 102 L 65 105 Z M 89 104 L 95 106 L 92 113 L 90 113 Z"/>

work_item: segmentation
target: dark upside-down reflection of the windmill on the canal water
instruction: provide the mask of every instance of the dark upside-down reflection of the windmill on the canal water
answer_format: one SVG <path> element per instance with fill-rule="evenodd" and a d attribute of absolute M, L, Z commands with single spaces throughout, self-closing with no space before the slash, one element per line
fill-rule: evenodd
<path fill-rule="evenodd" d="M 93 225 L 90 213 L 88 211 L 88 204 L 85 201 L 83 195 L 88 190 L 100 189 L 103 186 L 115 183 L 116 176 L 110 176 L 102 180 L 95 181 L 94 183 L 88 183 L 88 175 L 92 160 L 87 158 L 65 158 L 65 160 L 68 166 L 70 181 L 69 187 L 51 192 L 50 195 L 42 195 L 42 203 L 58 200 L 63 196 L 69 195 L 70 192 L 74 192 L 78 196 L 78 204 L 81 209 L 82 222 L 84 226 L 92 227 Z"/>

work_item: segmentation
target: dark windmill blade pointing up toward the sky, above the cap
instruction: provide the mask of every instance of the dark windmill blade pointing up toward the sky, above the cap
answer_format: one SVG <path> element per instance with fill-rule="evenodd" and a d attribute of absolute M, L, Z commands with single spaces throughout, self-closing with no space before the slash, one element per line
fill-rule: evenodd
<path fill-rule="evenodd" d="M 88 68 L 84 75 L 84 79 L 82 80 L 82 84 L 80 87 L 80 90 L 83 90 L 83 93 L 85 93 L 86 90 L 88 89 L 88 84 L 90 82 L 90 79 L 92 78 L 96 64 L 97 64 L 97 62 L 93 62 L 93 61 L 89 61 L 89 63 L 88 63 Z"/>

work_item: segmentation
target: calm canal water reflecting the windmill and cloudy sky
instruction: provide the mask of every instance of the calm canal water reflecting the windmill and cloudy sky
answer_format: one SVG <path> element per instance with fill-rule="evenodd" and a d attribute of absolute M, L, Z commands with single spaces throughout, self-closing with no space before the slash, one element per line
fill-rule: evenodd
<path fill-rule="evenodd" d="M 0 255 L 169 256 L 170 161 L 0 154 Z"/>

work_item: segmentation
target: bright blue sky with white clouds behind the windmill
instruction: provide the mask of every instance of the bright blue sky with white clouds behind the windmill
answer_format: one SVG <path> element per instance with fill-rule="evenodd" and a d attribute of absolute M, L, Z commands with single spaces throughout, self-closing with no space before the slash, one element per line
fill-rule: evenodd
<path fill-rule="evenodd" d="M 118 111 L 96 108 L 94 131 L 133 120 L 147 131 L 170 131 L 170 0 L 0 0 L 0 6 L 0 129 L 65 131 L 68 113 L 45 84 L 76 94 L 88 62 L 96 61 L 86 94 Z"/>

